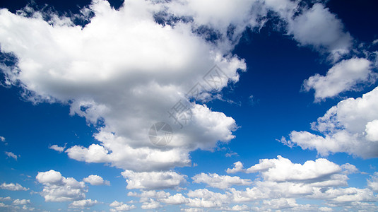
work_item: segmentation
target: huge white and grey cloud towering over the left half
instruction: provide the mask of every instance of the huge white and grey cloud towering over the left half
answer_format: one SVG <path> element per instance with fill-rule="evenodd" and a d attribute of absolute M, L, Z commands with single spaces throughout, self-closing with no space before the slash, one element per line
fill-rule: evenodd
<path fill-rule="evenodd" d="M 165 8 L 128 1 L 116 11 L 107 1 L 93 1 L 87 10 L 95 16 L 83 28 L 58 16 L 47 23 L 41 12 L 27 18 L 0 11 L 1 51 L 18 58 L 17 66 L 3 69 L 7 82 L 20 82 L 29 100 L 63 102 L 70 114 L 105 124 L 95 134 L 100 144 L 72 146 L 66 150 L 70 158 L 124 170 L 168 170 L 190 165 L 189 152 L 196 148 L 211 149 L 235 137 L 235 121 L 204 105 L 189 108 L 193 117 L 181 130 L 167 114 L 196 83 L 211 96 L 237 82 L 237 70 L 246 66 L 194 33 L 190 22 L 175 28 L 156 23 L 153 14 Z M 216 88 L 203 78 L 214 64 L 224 73 Z M 148 141 L 150 126 L 161 121 L 179 130 L 169 149 Z M 154 156 L 143 160 L 144 155 Z"/>

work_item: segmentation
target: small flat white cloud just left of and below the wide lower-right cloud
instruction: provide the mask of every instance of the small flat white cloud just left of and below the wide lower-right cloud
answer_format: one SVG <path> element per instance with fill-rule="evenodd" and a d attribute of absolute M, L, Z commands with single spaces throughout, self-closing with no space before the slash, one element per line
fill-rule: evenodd
<path fill-rule="evenodd" d="M 215 173 L 201 173 L 191 177 L 195 183 L 206 183 L 210 187 L 218 189 L 227 189 L 232 185 L 249 185 L 252 184 L 250 179 L 241 179 L 240 177 L 231 177 L 227 175 L 218 175 Z"/>

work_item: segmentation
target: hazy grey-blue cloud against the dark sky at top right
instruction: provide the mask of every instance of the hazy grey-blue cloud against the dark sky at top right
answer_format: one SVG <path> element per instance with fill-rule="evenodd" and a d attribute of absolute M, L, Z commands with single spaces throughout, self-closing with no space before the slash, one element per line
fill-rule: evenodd
<path fill-rule="evenodd" d="M 314 4 L 299 16 L 288 19 L 288 33 L 301 45 L 331 52 L 333 59 L 339 59 L 352 47 L 353 38 L 344 33 L 341 20 L 322 4 Z"/>

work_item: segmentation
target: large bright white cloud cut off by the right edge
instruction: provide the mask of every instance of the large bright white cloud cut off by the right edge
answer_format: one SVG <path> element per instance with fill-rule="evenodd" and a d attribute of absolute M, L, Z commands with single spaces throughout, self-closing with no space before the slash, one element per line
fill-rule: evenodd
<path fill-rule="evenodd" d="M 281 139 L 288 146 L 316 149 L 320 155 L 344 152 L 362 158 L 378 156 L 378 142 L 374 140 L 378 119 L 378 87 L 362 98 L 348 98 L 331 107 L 323 117 L 312 123 L 312 129 L 324 134 L 319 136 L 307 131 L 292 131 L 290 141 Z"/>

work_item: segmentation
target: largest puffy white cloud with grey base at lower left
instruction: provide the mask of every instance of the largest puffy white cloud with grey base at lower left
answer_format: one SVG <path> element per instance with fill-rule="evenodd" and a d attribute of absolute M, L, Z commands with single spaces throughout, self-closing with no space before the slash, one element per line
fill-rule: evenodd
<path fill-rule="evenodd" d="M 60 172 L 49 170 L 38 172 L 37 181 L 44 185 L 40 194 L 45 201 L 77 201 L 85 199 L 88 190 L 84 182 L 73 177 L 63 177 Z"/>

